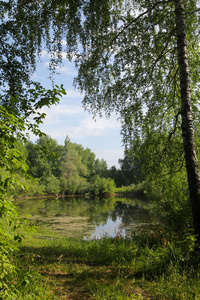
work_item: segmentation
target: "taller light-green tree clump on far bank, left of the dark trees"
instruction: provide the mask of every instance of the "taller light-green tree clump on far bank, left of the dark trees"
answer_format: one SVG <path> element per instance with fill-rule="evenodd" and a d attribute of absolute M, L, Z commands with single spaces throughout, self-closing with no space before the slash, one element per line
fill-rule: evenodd
<path fill-rule="evenodd" d="M 90 149 L 72 143 L 68 137 L 64 146 L 58 145 L 48 136 L 43 136 L 36 144 L 28 141 L 24 147 L 28 173 L 33 177 L 32 183 L 30 179 L 24 179 L 29 186 L 29 191 L 25 191 L 24 195 L 30 195 L 37 181 L 41 186 L 36 186 L 33 195 L 39 194 L 39 191 L 42 194 L 81 195 L 91 192 L 99 195 L 115 190 L 114 181 L 104 177 L 108 174 L 106 162 L 96 159 Z M 18 191 L 15 190 L 15 195 Z"/>

